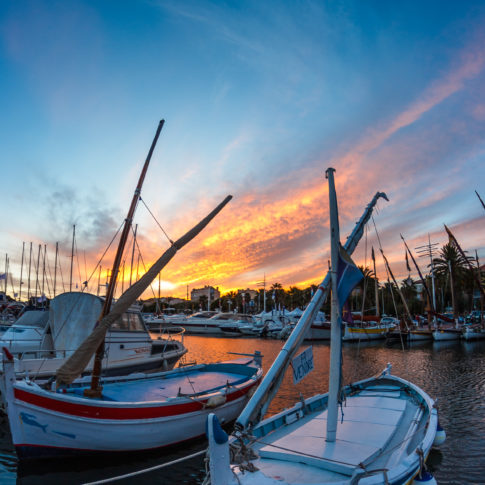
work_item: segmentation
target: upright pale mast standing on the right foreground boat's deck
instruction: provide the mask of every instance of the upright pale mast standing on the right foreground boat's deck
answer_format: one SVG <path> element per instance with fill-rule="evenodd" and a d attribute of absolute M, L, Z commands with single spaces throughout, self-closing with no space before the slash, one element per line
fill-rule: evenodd
<path fill-rule="evenodd" d="M 331 330 L 330 330 L 330 376 L 328 394 L 328 417 L 327 417 L 327 438 L 334 442 L 337 436 L 338 419 L 338 395 L 340 392 L 342 372 L 342 325 L 337 295 L 337 269 L 338 252 L 340 244 L 340 231 L 338 224 L 337 194 L 335 193 L 334 181 L 335 169 L 329 168 L 326 171 L 328 179 L 328 197 L 330 201 L 330 240 L 331 240 L 331 278 L 332 278 L 332 299 L 331 299 Z"/>

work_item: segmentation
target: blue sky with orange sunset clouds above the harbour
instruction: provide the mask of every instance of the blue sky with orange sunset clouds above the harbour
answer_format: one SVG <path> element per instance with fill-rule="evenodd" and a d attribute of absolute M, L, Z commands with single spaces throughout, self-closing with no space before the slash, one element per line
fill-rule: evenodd
<path fill-rule="evenodd" d="M 342 241 L 377 191 L 389 197 L 356 263 L 369 265 L 381 244 L 405 278 L 400 234 L 413 251 L 428 240 L 439 248 L 443 224 L 483 261 L 475 191 L 485 199 L 484 27 L 485 3 L 472 0 L 1 2 L 8 293 L 22 270 L 25 295 L 29 260 L 31 286 L 35 273 L 40 281 L 44 248 L 52 293 L 56 243 L 56 291 L 59 280 L 68 288 L 73 225 L 73 286 L 89 279 L 96 293 L 96 265 L 102 282 L 114 246 L 101 257 L 160 119 L 135 216 L 141 256 L 131 265 L 129 241 L 125 289 L 129 268 L 134 280 L 169 247 L 160 227 L 177 239 L 228 194 L 163 270 L 162 296 L 320 283 L 330 257 L 328 167 Z M 380 256 L 377 274 L 387 278 Z M 146 297 L 158 281 L 153 288 Z"/>

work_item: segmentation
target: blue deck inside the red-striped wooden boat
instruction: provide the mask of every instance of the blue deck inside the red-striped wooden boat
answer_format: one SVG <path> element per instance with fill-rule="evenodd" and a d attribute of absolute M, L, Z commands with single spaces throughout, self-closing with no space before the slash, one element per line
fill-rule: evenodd
<path fill-rule="evenodd" d="M 167 402 L 177 396 L 209 394 L 224 388 L 240 384 L 248 376 L 223 371 L 191 371 L 169 377 L 157 377 L 120 381 L 103 384 L 103 401 L 116 402 Z M 69 389 L 68 392 L 83 395 L 86 387 Z"/>

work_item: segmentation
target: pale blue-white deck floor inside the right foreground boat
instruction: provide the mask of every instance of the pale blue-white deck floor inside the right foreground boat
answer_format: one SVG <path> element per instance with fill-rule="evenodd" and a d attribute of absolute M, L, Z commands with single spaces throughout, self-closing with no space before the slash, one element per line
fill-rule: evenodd
<path fill-rule="evenodd" d="M 343 419 L 339 409 L 335 442 L 326 441 L 327 411 L 316 412 L 260 438 L 254 464 L 266 479 L 278 470 L 290 484 L 345 483 L 362 466 L 375 469 L 395 462 L 417 413 L 419 407 L 399 390 L 366 390 L 347 399 Z"/>

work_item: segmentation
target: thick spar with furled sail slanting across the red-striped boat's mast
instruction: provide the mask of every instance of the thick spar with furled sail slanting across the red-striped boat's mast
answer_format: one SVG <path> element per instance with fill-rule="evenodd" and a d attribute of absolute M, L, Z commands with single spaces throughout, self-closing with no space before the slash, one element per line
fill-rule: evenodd
<path fill-rule="evenodd" d="M 128 308 L 130 308 L 133 302 L 141 296 L 141 294 L 148 288 L 150 283 L 156 278 L 157 274 L 175 256 L 177 251 L 182 249 L 187 243 L 194 239 L 231 199 L 232 195 L 228 195 L 208 216 L 202 219 L 180 239 L 175 241 L 172 246 L 170 246 L 170 248 L 167 249 L 162 256 L 148 269 L 140 280 L 134 283 L 133 286 L 130 286 L 130 288 L 123 293 L 123 295 L 113 305 L 111 311 L 101 319 L 99 324 L 79 346 L 76 352 L 74 352 L 71 357 L 69 357 L 69 359 L 57 370 L 56 378 L 58 385 L 70 384 L 74 379 L 81 375 L 91 360 L 94 349 L 96 349 L 99 344 L 104 341 L 106 331 L 111 324 L 120 318 L 121 315 L 128 310 Z"/>

